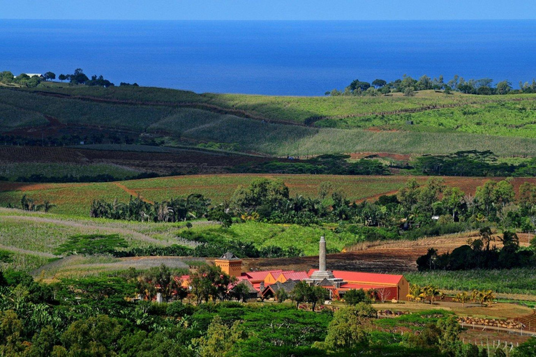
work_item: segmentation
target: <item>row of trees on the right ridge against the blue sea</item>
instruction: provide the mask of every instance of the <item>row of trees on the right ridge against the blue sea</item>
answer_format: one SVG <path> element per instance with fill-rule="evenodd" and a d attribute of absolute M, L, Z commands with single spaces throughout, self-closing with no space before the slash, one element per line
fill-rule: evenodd
<path fill-rule="evenodd" d="M 464 79 L 459 75 L 454 75 L 452 79 L 445 82 L 442 75 L 433 79 L 428 75 L 423 75 L 419 79 L 403 75 L 402 78 L 387 82 L 384 79 L 375 79 L 373 82 L 363 82 L 359 79 L 353 80 L 343 91 L 333 89 L 327 91 L 326 96 L 387 96 L 389 93 L 404 93 L 405 96 L 413 96 L 415 91 L 426 91 L 433 89 L 443 91 L 446 94 L 452 91 L 459 91 L 466 94 L 478 95 L 503 95 L 514 93 L 536 93 L 536 80 L 532 82 L 519 82 L 519 89 L 513 89 L 512 83 L 507 80 L 493 84 L 493 79 Z"/>

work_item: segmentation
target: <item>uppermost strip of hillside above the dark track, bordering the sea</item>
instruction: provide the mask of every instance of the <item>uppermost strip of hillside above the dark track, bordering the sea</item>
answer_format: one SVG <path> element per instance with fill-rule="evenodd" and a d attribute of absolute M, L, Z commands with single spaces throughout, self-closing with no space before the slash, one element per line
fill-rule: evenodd
<path fill-rule="evenodd" d="M 394 93 L 392 96 L 357 97 L 301 97 L 301 96 L 256 96 L 245 94 L 197 94 L 191 91 L 149 87 L 96 87 L 38 88 L 32 91 L 52 91 L 76 96 L 94 96 L 107 99 L 133 100 L 137 102 L 199 102 L 220 107 L 241 109 L 267 119 L 303 123 L 311 116 L 351 116 L 375 112 L 394 112 L 401 109 L 418 109 L 442 105 L 466 105 L 486 102 L 505 102 L 519 98 L 536 98 L 535 95 L 473 96 L 453 93 L 446 96 L 434 91 L 420 91 L 413 97 Z"/>

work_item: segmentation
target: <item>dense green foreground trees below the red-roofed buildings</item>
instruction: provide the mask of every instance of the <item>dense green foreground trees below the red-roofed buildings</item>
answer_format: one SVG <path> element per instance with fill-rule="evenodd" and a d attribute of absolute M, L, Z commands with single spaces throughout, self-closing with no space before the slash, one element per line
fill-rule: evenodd
<path fill-rule="evenodd" d="M 210 280 L 218 281 L 221 272 L 214 273 Z M 43 303 L 31 302 L 27 294 L 20 294 L 34 283 L 31 278 L 6 272 L 10 283 L 18 286 L 3 287 L 0 294 L 1 353 L 32 357 L 200 356 L 212 347 L 221 351 L 225 345 L 237 356 L 475 356 L 474 348 L 461 344 L 459 326 L 448 318 L 452 312 L 431 310 L 376 320 L 370 318 L 375 314 L 371 305 L 359 303 L 339 310 L 334 319 L 329 311 L 297 310 L 285 304 L 225 302 L 195 307 L 179 301 L 126 301 L 125 297 L 136 294 L 128 280 L 139 274 L 126 271 L 117 277 L 62 280 L 54 286 L 57 300 Z M 18 294 L 16 299 L 14 294 Z M 216 329 L 211 325 L 214 321 L 218 321 Z M 370 328 L 373 325 L 378 331 Z M 411 333 L 401 336 L 390 332 L 393 326 L 403 326 Z M 408 340 L 406 336 L 416 331 L 421 331 L 420 335 Z M 207 335 L 210 338 L 204 338 Z M 210 342 L 225 342 L 225 338 L 232 344 Z M 201 344 L 208 349 L 202 351 Z M 529 340 L 512 355 L 531 356 L 532 351 L 534 342 Z"/>

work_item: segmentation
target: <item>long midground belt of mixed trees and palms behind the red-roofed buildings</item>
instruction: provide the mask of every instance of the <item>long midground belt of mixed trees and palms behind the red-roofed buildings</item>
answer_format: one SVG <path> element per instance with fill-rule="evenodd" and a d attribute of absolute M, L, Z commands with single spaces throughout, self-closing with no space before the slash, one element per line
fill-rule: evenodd
<path fill-rule="evenodd" d="M 338 223 L 337 232 L 374 238 L 435 236 L 484 226 L 502 229 L 536 229 L 536 185 L 523 183 L 516 197 L 511 179 L 486 181 L 475 194 L 431 177 L 426 183 L 408 180 L 396 195 L 374 202 L 350 202 L 329 181 L 318 187 L 317 197 L 290 197 L 280 180 L 254 179 L 239 186 L 229 201 L 211 205 L 200 194 L 154 204 L 139 197 L 128 203 L 95 201 L 91 217 L 154 222 L 207 218 L 223 227 L 256 220 L 271 223 L 319 225 Z"/>

